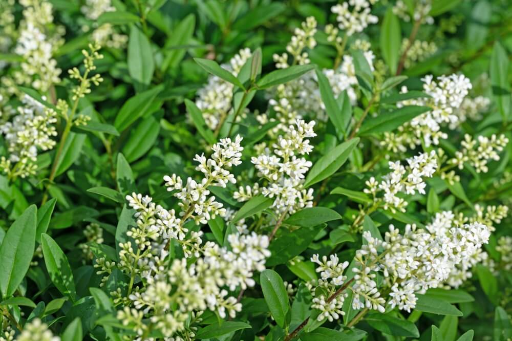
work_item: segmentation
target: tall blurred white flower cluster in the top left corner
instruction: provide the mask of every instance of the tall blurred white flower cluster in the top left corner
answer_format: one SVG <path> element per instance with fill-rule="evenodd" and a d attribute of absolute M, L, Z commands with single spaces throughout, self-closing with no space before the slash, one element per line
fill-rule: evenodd
<path fill-rule="evenodd" d="M 63 27 L 50 32 L 53 25 L 53 6 L 45 0 L 20 0 L 24 6 L 19 38 L 14 53 L 24 58 L 22 70 L 14 74 L 18 84 L 31 84 L 41 92 L 47 92 L 52 84 L 60 82 L 61 70 L 53 53 L 62 44 Z"/>

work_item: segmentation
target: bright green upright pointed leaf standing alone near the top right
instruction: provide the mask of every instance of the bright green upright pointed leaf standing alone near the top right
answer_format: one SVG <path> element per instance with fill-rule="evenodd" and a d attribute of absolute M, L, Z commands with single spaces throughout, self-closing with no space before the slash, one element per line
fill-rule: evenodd
<path fill-rule="evenodd" d="M 396 73 L 401 46 L 400 22 L 393 13 L 393 9 L 389 7 L 380 28 L 380 51 L 382 51 L 382 57 L 393 75 Z"/>

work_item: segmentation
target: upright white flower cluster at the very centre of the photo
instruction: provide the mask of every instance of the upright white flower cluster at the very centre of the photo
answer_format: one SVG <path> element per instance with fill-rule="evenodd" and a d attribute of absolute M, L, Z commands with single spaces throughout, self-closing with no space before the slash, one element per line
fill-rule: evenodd
<path fill-rule="evenodd" d="M 304 157 L 297 156 L 313 150 L 308 138 L 316 136 L 314 125 L 314 121 L 306 123 L 297 120 L 296 127 L 290 126 L 286 135 L 278 137 L 278 141 L 272 145 L 273 151 L 266 148 L 264 154 L 251 158 L 258 176 L 266 180 L 266 185 L 259 187 L 259 192 L 265 197 L 275 198 L 272 207 L 280 214 L 293 214 L 301 208 L 312 206 L 313 189 L 303 186 L 305 174 L 312 164 Z M 247 191 L 240 187 L 233 197 L 245 201 Z"/>

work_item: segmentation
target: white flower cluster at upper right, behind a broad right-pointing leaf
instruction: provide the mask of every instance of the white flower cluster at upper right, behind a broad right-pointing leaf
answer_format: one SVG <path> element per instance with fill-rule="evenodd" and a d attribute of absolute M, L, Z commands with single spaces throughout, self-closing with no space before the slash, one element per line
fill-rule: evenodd
<path fill-rule="evenodd" d="M 456 74 L 439 76 L 437 81 L 433 79 L 432 75 L 421 79 L 423 90 L 431 96 L 430 98 L 409 99 L 397 103 L 399 108 L 407 105 L 422 105 L 429 106 L 432 110 L 400 126 L 397 133 L 385 133 L 380 142 L 382 146 L 393 152 L 405 152 L 408 145 L 411 148 L 421 145 L 422 142 L 426 146 L 437 145 L 440 139 L 448 137 L 441 131 L 442 124 L 458 125 L 456 112 L 472 88 L 470 80 L 464 75 Z M 407 92 L 407 87 L 402 87 L 401 93 Z"/>

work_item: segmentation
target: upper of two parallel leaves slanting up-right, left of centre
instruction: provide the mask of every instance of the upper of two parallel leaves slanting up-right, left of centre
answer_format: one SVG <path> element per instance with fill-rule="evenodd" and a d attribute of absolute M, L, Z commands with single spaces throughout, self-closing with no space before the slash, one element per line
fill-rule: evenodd
<path fill-rule="evenodd" d="M 114 126 L 117 131 L 122 132 L 138 118 L 152 114 L 150 110 L 158 110 L 158 108 L 155 109 L 154 101 L 163 88 L 163 84 L 160 84 L 127 100 L 114 120 Z"/>

